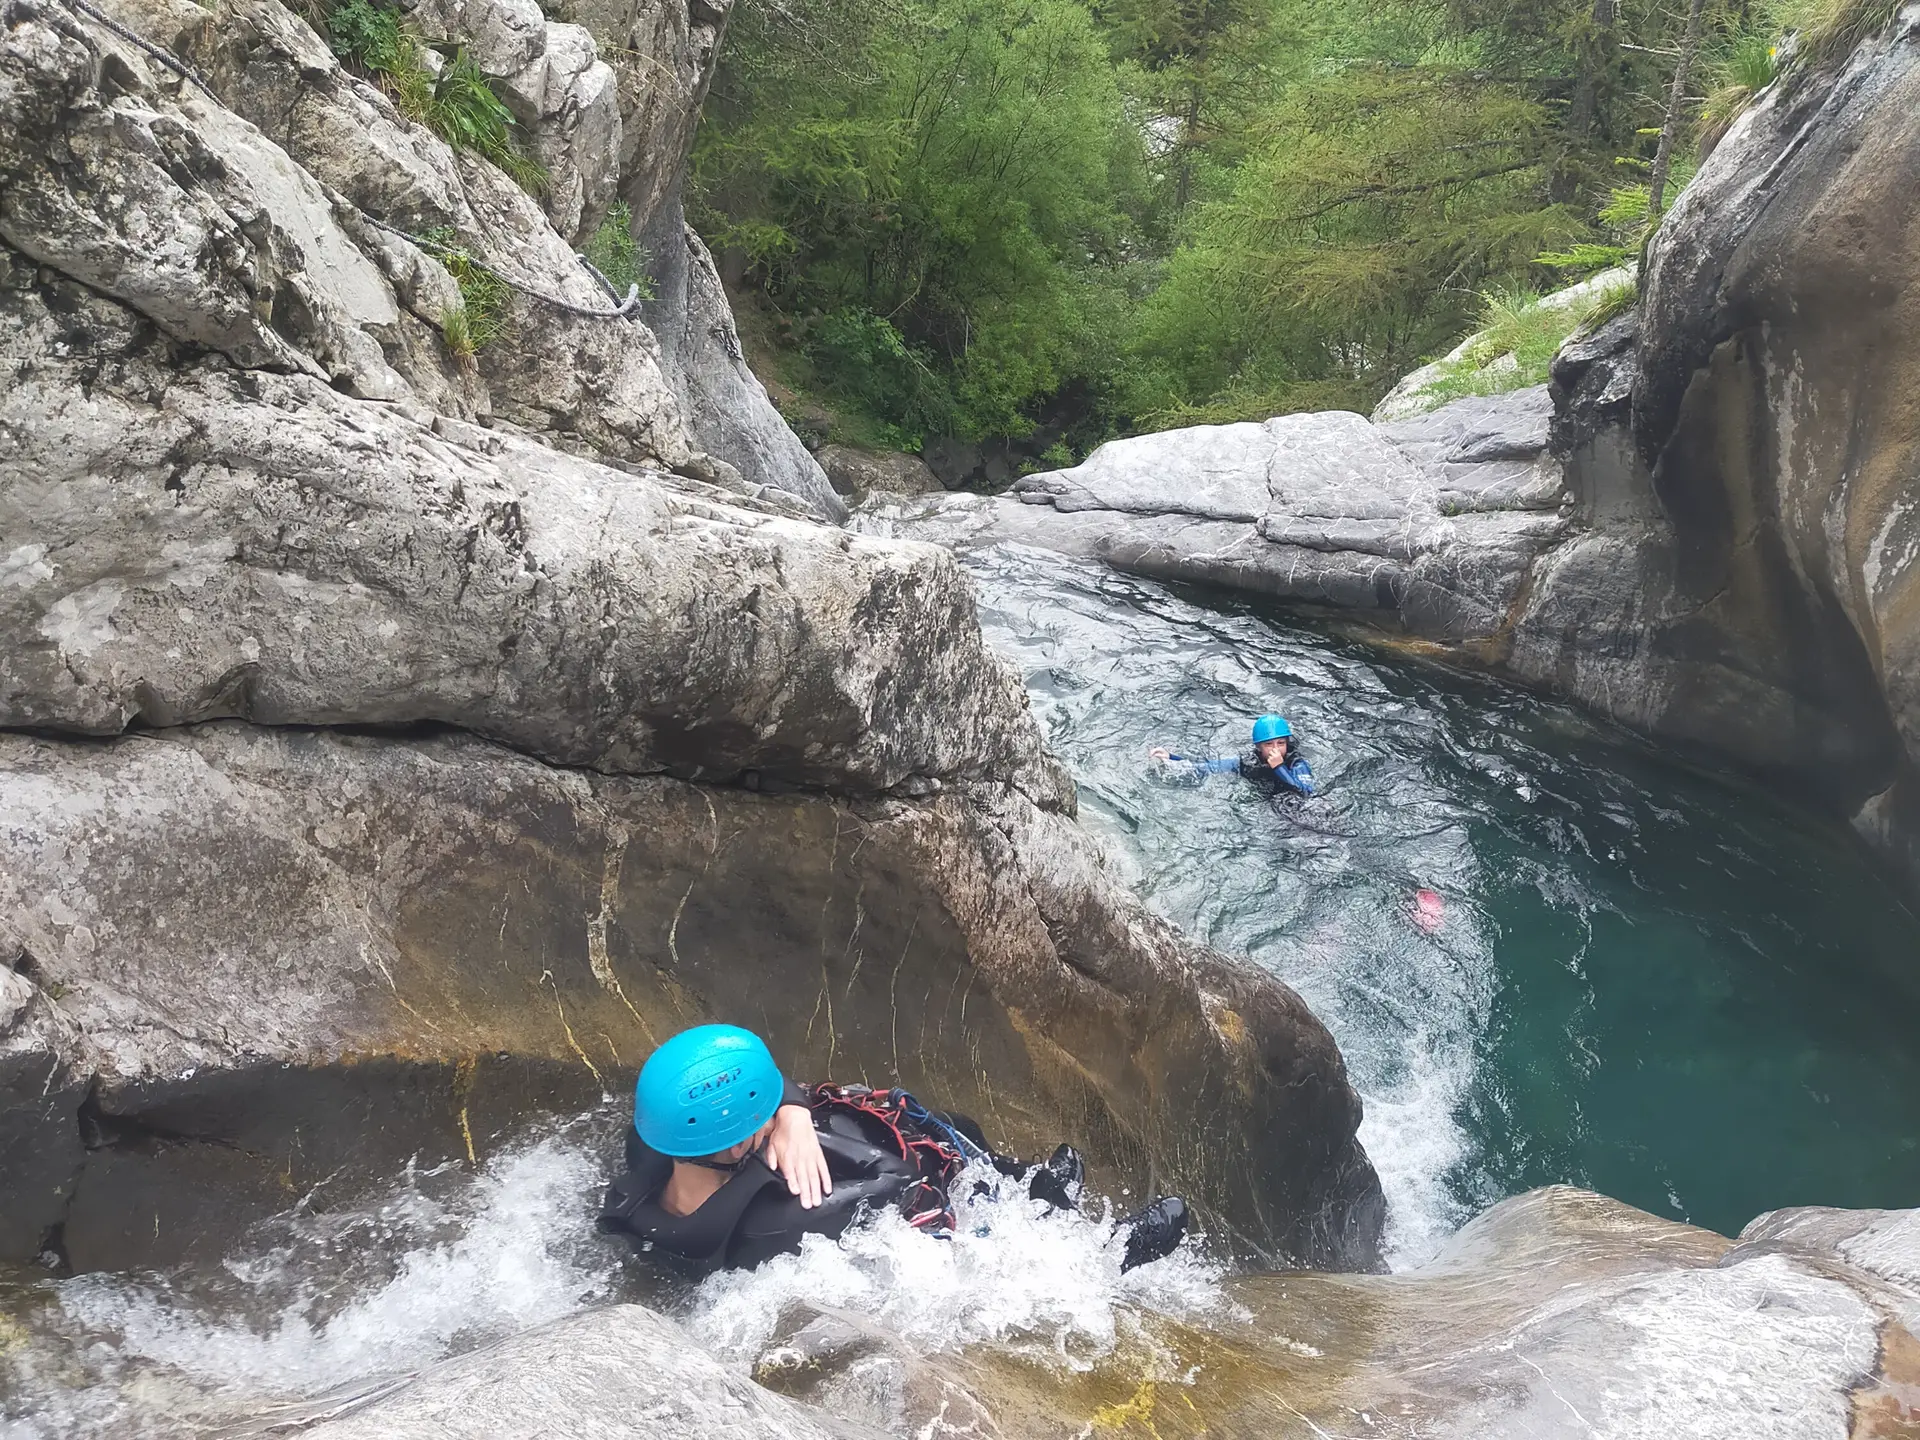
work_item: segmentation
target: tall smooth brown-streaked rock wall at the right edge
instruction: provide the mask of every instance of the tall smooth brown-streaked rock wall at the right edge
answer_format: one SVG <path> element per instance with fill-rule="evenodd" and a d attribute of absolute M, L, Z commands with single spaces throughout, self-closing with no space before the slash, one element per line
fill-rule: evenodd
<path fill-rule="evenodd" d="M 1638 363 L 1661 728 L 1920 877 L 1920 12 L 1734 125 L 1653 238 Z"/>

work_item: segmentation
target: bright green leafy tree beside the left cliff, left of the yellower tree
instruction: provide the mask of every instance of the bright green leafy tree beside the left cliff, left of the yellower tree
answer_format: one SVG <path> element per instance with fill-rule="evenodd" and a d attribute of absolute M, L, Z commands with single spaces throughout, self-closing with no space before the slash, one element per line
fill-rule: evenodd
<path fill-rule="evenodd" d="M 1077 0 L 910 0 L 822 10 L 760 73 L 820 44 L 826 79 L 728 77 L 697 221 L 904 434 L 1023 434 L 1089 380 L 1144 180 L 1106 36 Z"/>

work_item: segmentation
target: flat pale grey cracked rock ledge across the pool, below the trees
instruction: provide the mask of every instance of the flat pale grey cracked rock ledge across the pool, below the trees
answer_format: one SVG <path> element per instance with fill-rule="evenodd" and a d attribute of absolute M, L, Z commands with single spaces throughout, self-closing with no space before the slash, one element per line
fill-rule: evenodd
<path fill-rule="evenodd" d="M 1536 386 L 1384 426 L 1334 411 L 1167 430 L 1025 476 L 1010 497 L 876 495 L 856 528 L 1018 540 L 1488 645 L 1569 528 L 1549 417 Z"/>

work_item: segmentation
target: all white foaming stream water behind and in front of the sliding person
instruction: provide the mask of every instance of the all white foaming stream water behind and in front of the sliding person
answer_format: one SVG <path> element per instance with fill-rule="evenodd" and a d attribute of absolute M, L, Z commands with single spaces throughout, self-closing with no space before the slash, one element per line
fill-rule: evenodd
<path fill-rule="evenodd" d="M 797 1306 L 868 1315 L 922 1352 L 987 1342 L 1087 1365 L 1129 1313 L 1223 1304 L 1223 1269 L 1192 1242 L 1121 1275 L 1125 1238 L 1104 1204 L 1044 1215 L 991 1169 L 962 1179 L 962 1192 L 987 1190 L 958 1206 L 952 1240 L 889 1212 L 843 1244 L 810 1236 L 797 1256 L 712 1277 L 689 1300 L 593 1229 L 622 1123 L 584 1116 L 478 1171 L 409 1169 L 361 1206 L 296 1206 L 211 1269 L 31 1286 L 35 1344 L 0 1371 L 0 1440 L 204 1434 L 609 1300 L 684 1311 L 741 1367 Z"/>

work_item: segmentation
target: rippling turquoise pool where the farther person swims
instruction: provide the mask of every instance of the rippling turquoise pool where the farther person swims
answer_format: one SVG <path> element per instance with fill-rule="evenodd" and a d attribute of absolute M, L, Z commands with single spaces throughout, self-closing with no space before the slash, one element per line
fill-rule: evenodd
<path fill-rule="evenodd" d="M 1920 924 L 1843 833 L 1248 607 L 1020 549 L 970 564 L 1137 889 L 1338 1037 L 1396 1261 L 1553 1181 L 1728 1235 L 1920 1204 Z M 1319 799 L 1169 785 L 1146 758 L 1238 751 L 1267 708 Z"/>

